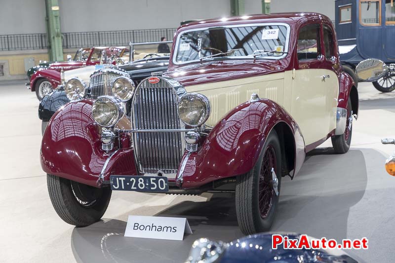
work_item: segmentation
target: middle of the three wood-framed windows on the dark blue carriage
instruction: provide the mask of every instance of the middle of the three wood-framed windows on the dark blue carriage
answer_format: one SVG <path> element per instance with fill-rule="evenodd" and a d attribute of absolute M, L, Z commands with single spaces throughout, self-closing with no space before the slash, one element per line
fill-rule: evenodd
<path fill-rule="evenodd" d="M 359 20 L 363 26 L 381 25 L 381 0 L 360 0 Z"/>

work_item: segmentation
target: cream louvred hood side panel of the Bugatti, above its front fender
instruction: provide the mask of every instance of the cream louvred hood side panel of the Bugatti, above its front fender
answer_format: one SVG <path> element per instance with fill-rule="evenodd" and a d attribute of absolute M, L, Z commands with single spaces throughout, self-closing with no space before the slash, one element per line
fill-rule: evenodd
<path fill-rule="evenodd" d="M 209 99 L 211 114 L 206 124 L 214 126 L 226 113 L 247 102 L 252 93 L 282 106 L 284 73 L 185 86 L 185 89 L 187 92 L 203 94 Z"/>

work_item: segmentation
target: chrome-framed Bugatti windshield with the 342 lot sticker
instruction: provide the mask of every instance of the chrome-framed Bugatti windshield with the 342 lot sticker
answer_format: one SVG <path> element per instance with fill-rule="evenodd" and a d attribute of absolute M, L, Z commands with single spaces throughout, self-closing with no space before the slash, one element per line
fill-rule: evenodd
<path fill-rule="evenodd" d="M 186 31 L 178 36 L 174 63 L 218 57 L 281 59 L 288 50 L 288 36 L 289 26 L 286 24 L 237 25 Z"/>

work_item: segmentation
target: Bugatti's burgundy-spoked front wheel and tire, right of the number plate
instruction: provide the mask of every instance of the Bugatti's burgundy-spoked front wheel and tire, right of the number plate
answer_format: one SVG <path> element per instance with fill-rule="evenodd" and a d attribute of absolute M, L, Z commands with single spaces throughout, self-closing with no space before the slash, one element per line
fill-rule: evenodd
<path fill-rule="evenodd" d="M 278 195 L 273 188 L 274 168 Z M 276 131 L 272 131 L 258 162 L 247 174 L 237 177 L 236 214 L 241 231 L 248 235 L 265 232 L 272 226 L 281 186 L 281 148 Z"/>

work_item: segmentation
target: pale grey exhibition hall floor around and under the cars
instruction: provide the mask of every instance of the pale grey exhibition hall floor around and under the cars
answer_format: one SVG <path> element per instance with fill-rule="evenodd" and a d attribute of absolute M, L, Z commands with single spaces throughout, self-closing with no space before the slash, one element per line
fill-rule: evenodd
<path fill-rule="evenodd" d="M 300 174 L 284 178 L 273 231 L 320 238 L 369 239 L 352 251 L 367 262 L 393 261 L 395 178 L 384 169 L 395 147 L 395 92 L 360 83 L 360 114 L 352 149 L 332 154 L 330 140 L 310 153 Z M 0 83 L 0 262 L 182 262 L 202 236 L 242 236 L 232 196 L 176 196 L 113 192 L 103 221 L 77 228 L 64 223 L 49 200 L 41 171 L 36 95 L 22 82 Z M 187 217 L 194 234 L 184 241 L 123 237 L 128 215 Z"/>

